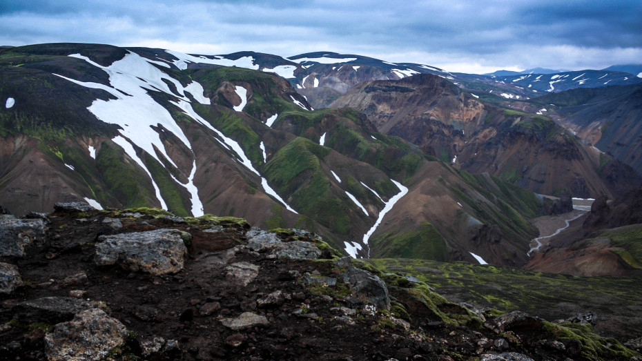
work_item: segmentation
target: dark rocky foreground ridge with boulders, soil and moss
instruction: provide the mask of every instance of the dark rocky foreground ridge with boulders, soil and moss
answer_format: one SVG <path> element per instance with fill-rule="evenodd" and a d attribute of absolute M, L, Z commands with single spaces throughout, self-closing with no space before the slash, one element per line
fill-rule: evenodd
<path fill-rule="evenodd" d="M 591 322 L 469 309 L 239 218 L 0 215 L 0 360 L 640 360 Z"/>

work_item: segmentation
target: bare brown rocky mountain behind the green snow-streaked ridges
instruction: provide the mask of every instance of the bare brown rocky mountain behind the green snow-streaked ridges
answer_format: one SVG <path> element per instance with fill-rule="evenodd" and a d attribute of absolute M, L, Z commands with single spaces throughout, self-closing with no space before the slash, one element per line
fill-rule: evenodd
<path fill-rule="evenodd" d="M 435 75 L 358 84 L 331 104 L 362 111 L 381 133 L 417 144 L 469 173 L 535 193 L 619 195 L 642 182 L 551 119 L 485 104 Z M 607 159 L 608 157 L 606 157 Z"/>

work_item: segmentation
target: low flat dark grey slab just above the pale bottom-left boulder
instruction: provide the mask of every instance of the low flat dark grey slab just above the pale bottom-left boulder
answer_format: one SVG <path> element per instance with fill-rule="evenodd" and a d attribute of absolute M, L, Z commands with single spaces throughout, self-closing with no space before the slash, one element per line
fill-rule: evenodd
<path fill-rule="evenodd" d="M 21 322 L 57 324 L 72 320 L 76 313 L 93 307 L 89 302 L 73 297 L 43 297 L 21 302 L 11 311 L 13 317 Z"/>

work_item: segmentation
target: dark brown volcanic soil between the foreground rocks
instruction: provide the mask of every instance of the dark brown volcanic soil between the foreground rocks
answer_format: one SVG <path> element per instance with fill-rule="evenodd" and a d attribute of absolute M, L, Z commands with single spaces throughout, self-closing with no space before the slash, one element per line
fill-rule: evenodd
<path fill-rule="evenodd" d="M 19 266 L 26 286 L 12 295 L 0 295 L 0 360 L 46 358 L 43 329 L 52 325 L 12 321 L 12 306 L 39 297 L 66 297 L 74 290 L 86 291 L 84 299 L 95 302 L 130 332 L 125 347 L 113 354 L 115 359 L 142 357 L 141 343 L 153 338 L 176 340 L 177 347 L 148 355 L 150 360 L 472 360 L 484 353 L 507 351 L 534 360 L 566 360 L 571 351 L 576 352 L 546 347 L 545 338 L 551 335 L 523 324 L 501 334 L 479 323 L 445 324 L 429 305 L 411 302 L 412 289 L 389 286 L 391 300 L 411 311 L 405 317 L 410 322 L 385 310 L 370 312 L 345 292 L 345 286 L 304 285 L 306 273 L 340 278 L 333 262 L 288 260 L 235 248 L 246 243 L 247 226 L 242 223 L 227 224 L 212 233 L 194 223 L 121 215 L 123 227 L 115 229 L 102 222 L 104 217 L 106 213 L 98 212 L 53 213 L 45 242 L 28 249 L 23 259 L 3 260 Z M 98 235 L 157 228 L 177 228 L 193 235 L 183 271 L 153 276 L 93 263 Z M 299 238 L 309 240 L 309 236 Z M 283 240 L 291 237 L 283 235 Z M 321 256 L 332 257 L 331 251 Z M 226 277 L 226 266 L 236 262 L 260 267 L 246 286 Z M 86 279 L 70 277 L 79 273 Z M 274 291 L 282 291 L 281 304 L 257 304 Z M 353 315 L 337 318 L 344 315 L 340 307 L 354 310 Z M 442 311 L 464 310 L 456 304 L 448 307 Z M 247 311 L 264 315 L 268 324 L 233 331 L 221 322 Z M 500 339 L 504 341 L 495 342 Z M 581 360 L 581 353 L 571 358 Z"/>

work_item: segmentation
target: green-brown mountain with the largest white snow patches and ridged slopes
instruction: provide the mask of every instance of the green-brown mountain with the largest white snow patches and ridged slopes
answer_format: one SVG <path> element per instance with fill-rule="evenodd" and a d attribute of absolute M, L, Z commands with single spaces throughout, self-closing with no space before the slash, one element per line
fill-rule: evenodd
<path fill-rule="evenodd" d="M 98 44 L 2 50 L 1 205 L 154 206 L 306 228 L 353 256 L 527 261 L 536 229 L 526 218 L 541 199 L 442 164 L 356 110 L 313 110 L 259 71 L 278 61 Z"/>

